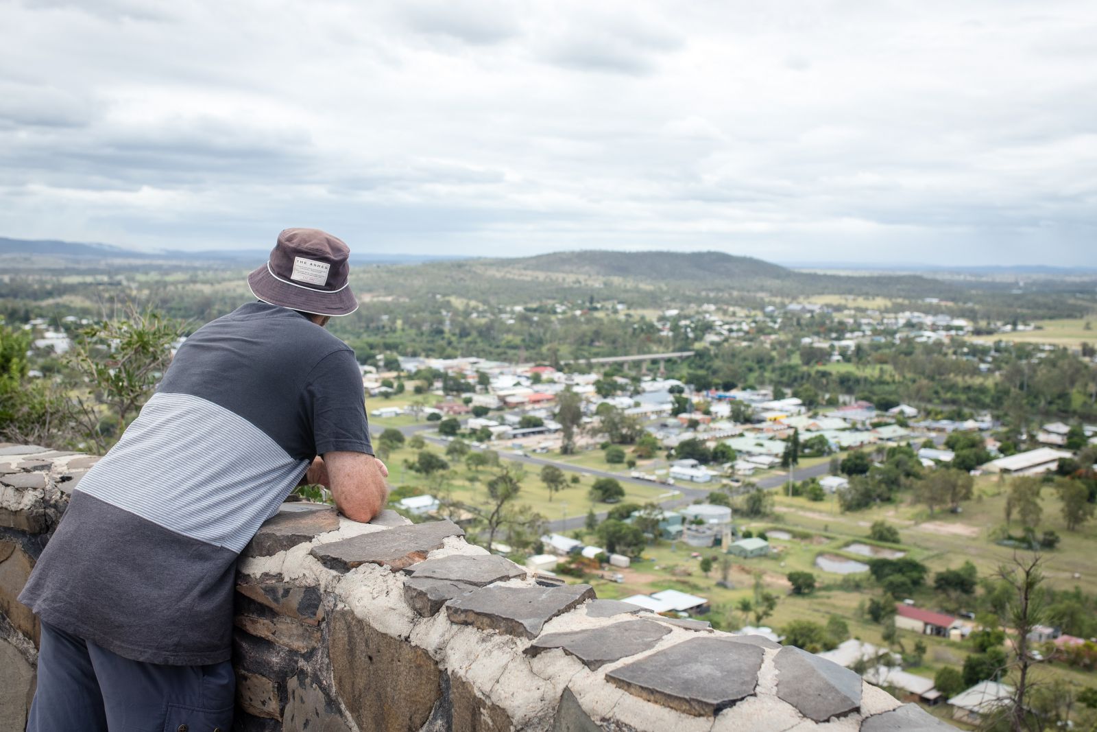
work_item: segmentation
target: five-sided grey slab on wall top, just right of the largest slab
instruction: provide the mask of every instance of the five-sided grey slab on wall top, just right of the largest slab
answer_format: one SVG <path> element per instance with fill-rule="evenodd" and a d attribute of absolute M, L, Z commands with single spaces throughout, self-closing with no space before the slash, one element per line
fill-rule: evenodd
<path fill-rule="evenodd" d="M 793 645 L 778 651 L 777 696 L 816 722 L 861 707 L 861 677 Z"/>

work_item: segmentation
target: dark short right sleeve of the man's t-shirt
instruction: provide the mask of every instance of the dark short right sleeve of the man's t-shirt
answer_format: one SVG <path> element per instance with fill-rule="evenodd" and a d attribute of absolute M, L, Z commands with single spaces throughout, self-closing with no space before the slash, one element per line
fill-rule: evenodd
<path fill-rule="evenodd" d="M 309 374 L 303 399 L 316 454 L 336 451 L 373 454 L 362 372 L 353 351 L 338 350 L 320 359 Z"/>

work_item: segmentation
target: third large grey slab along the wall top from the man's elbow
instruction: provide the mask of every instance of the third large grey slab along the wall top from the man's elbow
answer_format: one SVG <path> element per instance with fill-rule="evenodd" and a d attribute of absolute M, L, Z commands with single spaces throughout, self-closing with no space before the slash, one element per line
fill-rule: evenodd
<path fill-rule="evenodd" d="M 546 622 L 595 597 L 590 585 L 480 587 L 445 604 L 451 622 L 536 638 Z"/>

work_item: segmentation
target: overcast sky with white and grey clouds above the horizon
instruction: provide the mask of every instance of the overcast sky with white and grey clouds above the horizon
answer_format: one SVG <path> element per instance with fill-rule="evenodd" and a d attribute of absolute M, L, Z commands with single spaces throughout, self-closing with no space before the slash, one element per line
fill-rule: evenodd
<path fill-rule="evenodd" d="M 0 236 L 1097 266 L 1093 0 L 0 0 Z"/>

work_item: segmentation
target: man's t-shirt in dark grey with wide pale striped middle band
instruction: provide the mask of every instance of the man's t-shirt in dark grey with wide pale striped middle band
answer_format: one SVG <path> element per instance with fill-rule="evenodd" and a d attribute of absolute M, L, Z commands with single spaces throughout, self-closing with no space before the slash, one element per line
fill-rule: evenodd
<path fill-rule="evenodd" d="M 298 313 L 244 305 L 179 349 L 20 600 L 134 661 L 227 661 L 236 558 L 331 451 L 373 454 L 354 352 Z"/>

